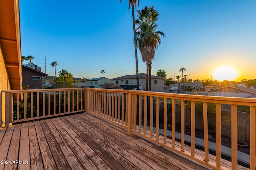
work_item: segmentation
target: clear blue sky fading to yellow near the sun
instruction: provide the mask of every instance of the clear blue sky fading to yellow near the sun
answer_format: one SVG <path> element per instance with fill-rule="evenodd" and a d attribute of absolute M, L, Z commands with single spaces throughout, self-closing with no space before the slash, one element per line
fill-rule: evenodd
<path fill-rule="evenodd" d="M 159 12 L 166 35 L 153 75 L 162 69 L 173 78 L 184 67 L 192 79 L 220 79 L 228 70 L 236 70 L 234 80 L 256 78 L 255 0 L 140 0 L 138 9 L 144 6 Z M 46 56 L 50 76 L 53 61 L 57 74 L 66 69 L 76 78 L 136 74 L 128 0 L 20 0 L 20 29 L 22 55 L 34 56 L 42 72 Z M 139 51 L 138 63 L 145 72 Z M 223 65 L 233 69 L 215 71 Z"/>

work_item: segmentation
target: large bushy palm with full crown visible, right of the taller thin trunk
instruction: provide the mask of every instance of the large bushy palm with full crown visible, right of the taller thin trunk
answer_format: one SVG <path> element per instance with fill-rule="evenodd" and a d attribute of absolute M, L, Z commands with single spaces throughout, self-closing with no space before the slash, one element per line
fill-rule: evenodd
<path fill-rule="evenodd" d="M 154 6 L 149 8 L 145 6 L 142 10 L 138 10 L 138 20 L 135 21 L 137 32 L 135 34 L 142 61 L 146 63 L 146 90 L 151 91 L 151 70 L 152 60 L 155 57 L 156 49 L 161 43 L 161 36 L 164 37 L 162 31 L 156 31 L 159 13 Z"/>

